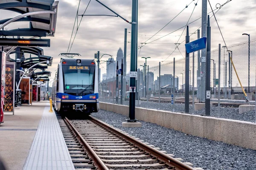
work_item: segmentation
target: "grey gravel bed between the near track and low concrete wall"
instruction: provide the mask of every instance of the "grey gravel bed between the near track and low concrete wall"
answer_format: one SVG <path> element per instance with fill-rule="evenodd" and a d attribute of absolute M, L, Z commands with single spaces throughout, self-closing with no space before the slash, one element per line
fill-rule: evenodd
<path fill-rule="evenodd" d="M 204 170 L 256 170 L 256 150 L 188 135 L 143 121 L 140 121 L 142 127 L 122 127 L 127 117 L 109 111 L 100 110 L 92 113 L 92 116 L 174 154 L 175 158 L 191 162 L 194 167 Z"/>

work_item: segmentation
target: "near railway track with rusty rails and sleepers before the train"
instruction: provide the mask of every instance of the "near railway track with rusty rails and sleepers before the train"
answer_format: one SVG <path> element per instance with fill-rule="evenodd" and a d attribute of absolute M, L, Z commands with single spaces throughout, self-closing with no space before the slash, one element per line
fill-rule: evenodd
<path fill-rule="evenodd" d="M 59 123 L 77 170 L 203 170 L 93 117 Z"/>

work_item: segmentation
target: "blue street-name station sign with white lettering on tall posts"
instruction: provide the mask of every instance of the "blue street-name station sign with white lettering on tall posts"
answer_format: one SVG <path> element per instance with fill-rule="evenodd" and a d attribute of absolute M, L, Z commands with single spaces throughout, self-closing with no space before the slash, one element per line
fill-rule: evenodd
<path fill-rule="evenodd" d="M 198 40 L 189 42 L 185 44 L 186 53 L 192 53 L 194 51 L 206 48 L 206 37 L 199 38 Z"/>

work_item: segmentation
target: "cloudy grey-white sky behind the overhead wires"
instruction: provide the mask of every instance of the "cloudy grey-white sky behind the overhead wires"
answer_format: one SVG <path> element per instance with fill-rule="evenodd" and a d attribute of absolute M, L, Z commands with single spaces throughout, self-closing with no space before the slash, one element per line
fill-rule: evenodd
<path fill-rule="evenodd" d="M 79 14 L 83 14 L 87 4 L 90 4 L 85 14 L 108 14 L 113 15 L 111 11 L 96 2 L 96 0 L 81 0 L 79 7 Z M 131 21 L 131 2 L 132 0 L 100 0 L 113 11 Z M 139 0 L 138 3 L 138 46 L 140 43 L 148 40 L 151 35 L 154 35 L 169 23 L 177 14 L 180 13 L 174 20 L 172 20 L 163 30 L 156 36 L 152 37 L 147 42 L 156 40 L 163 35 L 169 34 L 180 27 L 186 26 L 199 17 L 201 17 L 201 0 Z M 213 10 L 219 4 L 223 4 L 227 0 L 210 0 Z M 197 5 L 195 6 L 195 3 Z M 52 67 L 47 71 L 55 75 L 55 70 L 60 62 L 60 53 L 66 53 L 69 46 L 70 37 L 76 17 L 79 0 L 59 0 L 58 16 L 55 37 L 50 37 L 51 47 L 43 48 L 44 55 L 53 57 Z M 217 4 L 217 5 L 216 5 Z M 250 38 L 256 38 L 255 28 L 256 22 L 256 1 L 255 0 L 232 0 L 224 5 L 217 13 L 216 19 L 224 36 L 227 45 L 236 44 L 248 40 L 247 36 L 242 36 L 243 33 L 250 34 Z M 194 9 L 194 11 L 193 11 Z M 193 13 L 192 13 L 193 11 Z M 15 17 L 18 14 L 0 10 L 0 19 L 6 19 L 10 16 Z M 207 12 L 211 12 L 209 3 L 207 4 Z M 192 15 L 191 15 L 192 14 Z M 191 17 L 190 17 L 191 16 Z M 210 13 L 212 16 L 212 13 Z M 189 19 L 190 17 L 190 19 Z M 79 17 L 80 21 L 81 17 Z M 28 23 L 12 23 L 7 26 L 7 29 L 15 29 L 17 27 L 27 27 Z M 201 19 L 189 24 L 189 32 L 193 33 L 201 26 Z M 71 53 L 81 54 L 81 58 L 94 58 L 94 53 L 100 51 L 103 54 L 113 55 L 116 59 L 118 49 L 124 48 L 124 31 L 128 29 L 128 43 L 127 43 L 127 69 L 130 68 L 130 42 L 131 42 L 131 24 L 126 23 L 120 17 L 107 17 L 107 16 L 84 16 L 81 20 L 81 25 L 77 31 L 76 38 L 73 42 Z M 218 48 L 218 44 L 224 44 L 218 26 L 214 17 L 211 18 L 212 28 L 212 49 Z M 183 32 L 184 31 L 184 32 Z M 75 30 L 76 32 L 76 26 Z M 181 35 L 182 34 L 182 35 Z M 185 40 L 186 30 L 183 28 L 161 38 L 160 40 L 145 44 L 142 48 L 138 49 L 138 65 L 145 62 L 141 57 L 151 57 L 148 59 L 148 65 L 156 66 L 158 62 L 163 63 L 173 61 L 175 59 L 182 59 L 185 56 Z M 181 35 L 181 37 L 180 37 Z M 47 37 L 49 38 L 49 37 Z M 196 40 L 197 34 L 192 34 L 190 41 Z M 73 38 L 72 38 L 73 40 Z M 175 43 L 182 43 L 179 45 L 179 50 L 175 50 Z M 29 57 L 29 54 L 25 55 Z M 11 56 L 12 57 L 12 56 Z M 13 57 L 12 57 L 13 58 Z M 100 68 L 102 74 L 105 73 L 106 62 L 109 56 L 102 57 Z"/>

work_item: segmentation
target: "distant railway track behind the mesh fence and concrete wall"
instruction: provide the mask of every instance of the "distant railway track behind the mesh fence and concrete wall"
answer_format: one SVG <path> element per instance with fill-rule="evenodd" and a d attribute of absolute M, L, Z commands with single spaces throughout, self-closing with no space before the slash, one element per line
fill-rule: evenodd
<path fill-rule="evenodd" d="M 140 97 L 140 100 L 142 101 L 147 101 L 147 98 L 145 97 Z M 159 102 L 158 97 L 151 97 L 148 98 L 149 102 Z M 167 98 L 167 97 L 160 97 L 160 102 L 161 103 L 171 103 L 171 98 Z M 199 100 L 195 99 L 195 103 L 198 103 Z M 185 103 L 185 99 L 182 97 L 177 97 L 175 99 L 175 103 L 177 104 L 183 104 Z M 218 102 L 213 102 L 211 101 L 212 105 L 214 106 L 218 106 Z M 189 98 L 189 104 L 192 105 L 192 98 Z M 247 105 L 247 103 L 238 103 L 238 102 L 220 102 L 220 106 L 221 107 L 233 107 L 233 108 L 239 108 L 240 105 Z"/>

